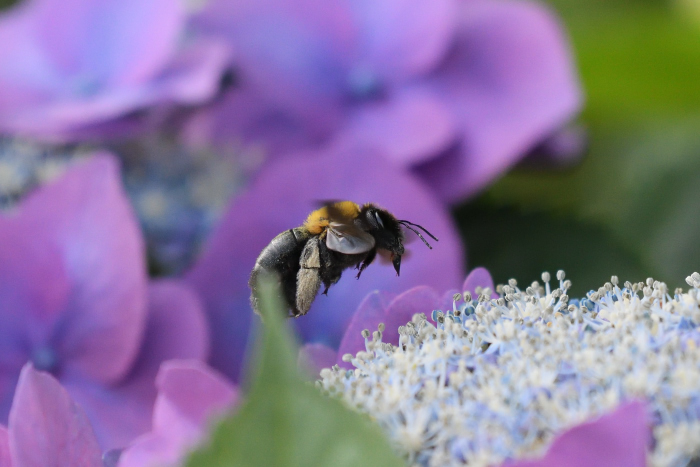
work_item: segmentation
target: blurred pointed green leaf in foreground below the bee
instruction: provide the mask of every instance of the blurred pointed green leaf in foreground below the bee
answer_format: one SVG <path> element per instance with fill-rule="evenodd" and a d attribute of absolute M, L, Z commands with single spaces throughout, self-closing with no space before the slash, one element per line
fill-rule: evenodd
<path fill-rule="evenodd" d="M 261 287 L 265 325 L 246 402 L 187 465 L 403 466 L 377 425 L 302 381 L 296 345 L 271 287 Z"/>

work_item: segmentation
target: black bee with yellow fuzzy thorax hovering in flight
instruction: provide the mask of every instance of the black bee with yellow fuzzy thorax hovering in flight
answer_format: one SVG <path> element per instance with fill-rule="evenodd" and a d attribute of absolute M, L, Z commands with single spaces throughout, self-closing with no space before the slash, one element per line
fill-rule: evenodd
<path fill-rule="evenodd" d="M 258 276 L 276 273 L 283 299 L 290 316 L 305 315 L 325 286 L 324 294 L 340 280 L 350 267 L 362 271 L 374 261 L 377 251 L 387 252 L 398 276 L 404 254 L 403 230 L 420 237 L 428 248 L 432 246 L 417 230 L 438 239 L 418 224 L 397 220 L 393 214 L 375 204 L 359 206 L 352 201 L 328 202 L 313 211 L 301 227 L 282 232 L 263 249 L 250 274 L 250 302 L 259 313 L 256 298 Z"/>

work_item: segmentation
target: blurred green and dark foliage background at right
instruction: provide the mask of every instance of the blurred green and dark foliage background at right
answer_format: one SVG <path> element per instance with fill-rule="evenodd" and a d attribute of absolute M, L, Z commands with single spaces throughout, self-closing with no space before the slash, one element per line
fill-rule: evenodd
<path fill-rule="evenodd" d="M 573 295 L 611 274 L 670 287 L 700 270 L 700 0 L 552 0 L 586 94 L 589 150 L 516 170 L 455 209 L 468 264 L 496 282 L 564 269 Z"/>

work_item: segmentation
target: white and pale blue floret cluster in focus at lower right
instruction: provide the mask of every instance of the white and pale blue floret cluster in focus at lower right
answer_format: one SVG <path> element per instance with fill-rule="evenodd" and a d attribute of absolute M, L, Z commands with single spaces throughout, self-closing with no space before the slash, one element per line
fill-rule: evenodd
<path fill-rule="evenodd" d="M 515 280 L 457 294 L 452 310 L 399 328 L 324 369 L 317 385 L 369 414 L 408 465 L 498 465 L 543 454 L 562 430 L 648 401 L 654 466 L 685 466 L 700 454 L 700 274 L 673 295 L 653 279 L 619 286 L 613 276 L 582 300 L 559 287 Z M 593 449 L 595 447 L 592 447 Z"/>

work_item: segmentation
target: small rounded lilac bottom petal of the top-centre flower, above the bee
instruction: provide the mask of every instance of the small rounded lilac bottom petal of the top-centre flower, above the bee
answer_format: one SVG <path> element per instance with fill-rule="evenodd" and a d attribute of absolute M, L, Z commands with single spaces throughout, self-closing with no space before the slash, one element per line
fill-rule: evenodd
<path fill-rule="evenodd" d="M 341 131 L 340 138 L 376 146 L 403 167 L 434 157 L 458 136 L 447 107 L 419 91 L 357 106 Z"/>

